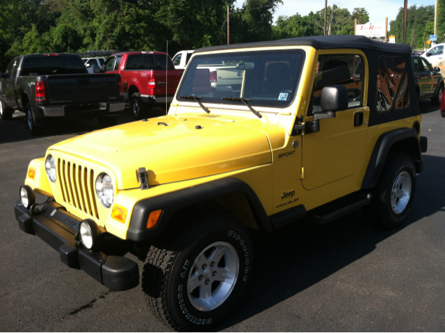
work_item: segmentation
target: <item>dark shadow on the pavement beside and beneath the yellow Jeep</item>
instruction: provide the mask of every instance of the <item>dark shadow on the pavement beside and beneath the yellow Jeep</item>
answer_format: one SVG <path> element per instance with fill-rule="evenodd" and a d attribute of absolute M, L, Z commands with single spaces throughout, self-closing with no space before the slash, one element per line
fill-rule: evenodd
<path fill-rule="evenodd" d="M 324 227 L 302 221 L 273 234 L 255 236 L 252 284 L 243 302 L 216 330 L 225 330 L 295 296 L 372 252 L 376 245 L 409 225 L 445 211 L 445 158 L 424 155 L 411 215 L 402 227 L 381 231 L 364 221 L 362 211 Z"/>

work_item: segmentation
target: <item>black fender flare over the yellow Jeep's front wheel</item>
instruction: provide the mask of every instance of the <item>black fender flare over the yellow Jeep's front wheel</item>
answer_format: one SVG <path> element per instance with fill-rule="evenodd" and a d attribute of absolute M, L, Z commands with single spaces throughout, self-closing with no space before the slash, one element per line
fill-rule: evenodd
<path fill-rule="evenodd" d="M 265 232 L 273 230 L 254 190 L 241 179 L 230 177 L 141 200 L 133 209 L 127 238 L 131 241 L 145 241 L 160 236 L 177 211 L 229 193 L 245 195 L 259 227 Z M 152 229 L 146 229 L 149 213 L 158 209 L 162 209 L 161 217 Z"/>

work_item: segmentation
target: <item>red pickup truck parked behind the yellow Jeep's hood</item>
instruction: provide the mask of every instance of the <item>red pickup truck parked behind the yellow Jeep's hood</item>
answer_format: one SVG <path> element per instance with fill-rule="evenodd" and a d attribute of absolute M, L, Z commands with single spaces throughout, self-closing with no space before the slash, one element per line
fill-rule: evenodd
<path fill-rule="evenodd" d="M 172 101 L 184 70 L 175 70 L 164 52 L 130 51 L 110 56 L 101 72 L 120 74 L 124 99 L 131 104 L 134 117 L 141 119 L 150 107 Z"/>

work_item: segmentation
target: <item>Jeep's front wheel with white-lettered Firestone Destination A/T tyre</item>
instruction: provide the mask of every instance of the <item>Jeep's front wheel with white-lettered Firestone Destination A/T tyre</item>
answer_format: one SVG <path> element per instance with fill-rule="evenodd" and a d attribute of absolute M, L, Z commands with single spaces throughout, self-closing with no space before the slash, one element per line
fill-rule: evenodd
<path fill-rule="evenodd" d="M 142 286 L 154 315 L 179 331 L 209 331 L 248 287 L 252 241 L 225 214 L 203 216 L 152 245 Z"/>

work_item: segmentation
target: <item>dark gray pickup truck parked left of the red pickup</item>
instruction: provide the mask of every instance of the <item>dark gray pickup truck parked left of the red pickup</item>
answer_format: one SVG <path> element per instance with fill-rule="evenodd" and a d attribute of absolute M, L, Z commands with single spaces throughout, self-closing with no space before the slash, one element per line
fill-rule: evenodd
<path fill-rule="evenodd" d="M 0 72 L 1 119 L 26 113 L 32 135 L 56 117 L 97 116 L 102 127 L 112 126 L 124 106 L 120 74 L 88 74 L 75 54 L 17 56 Z"/>

